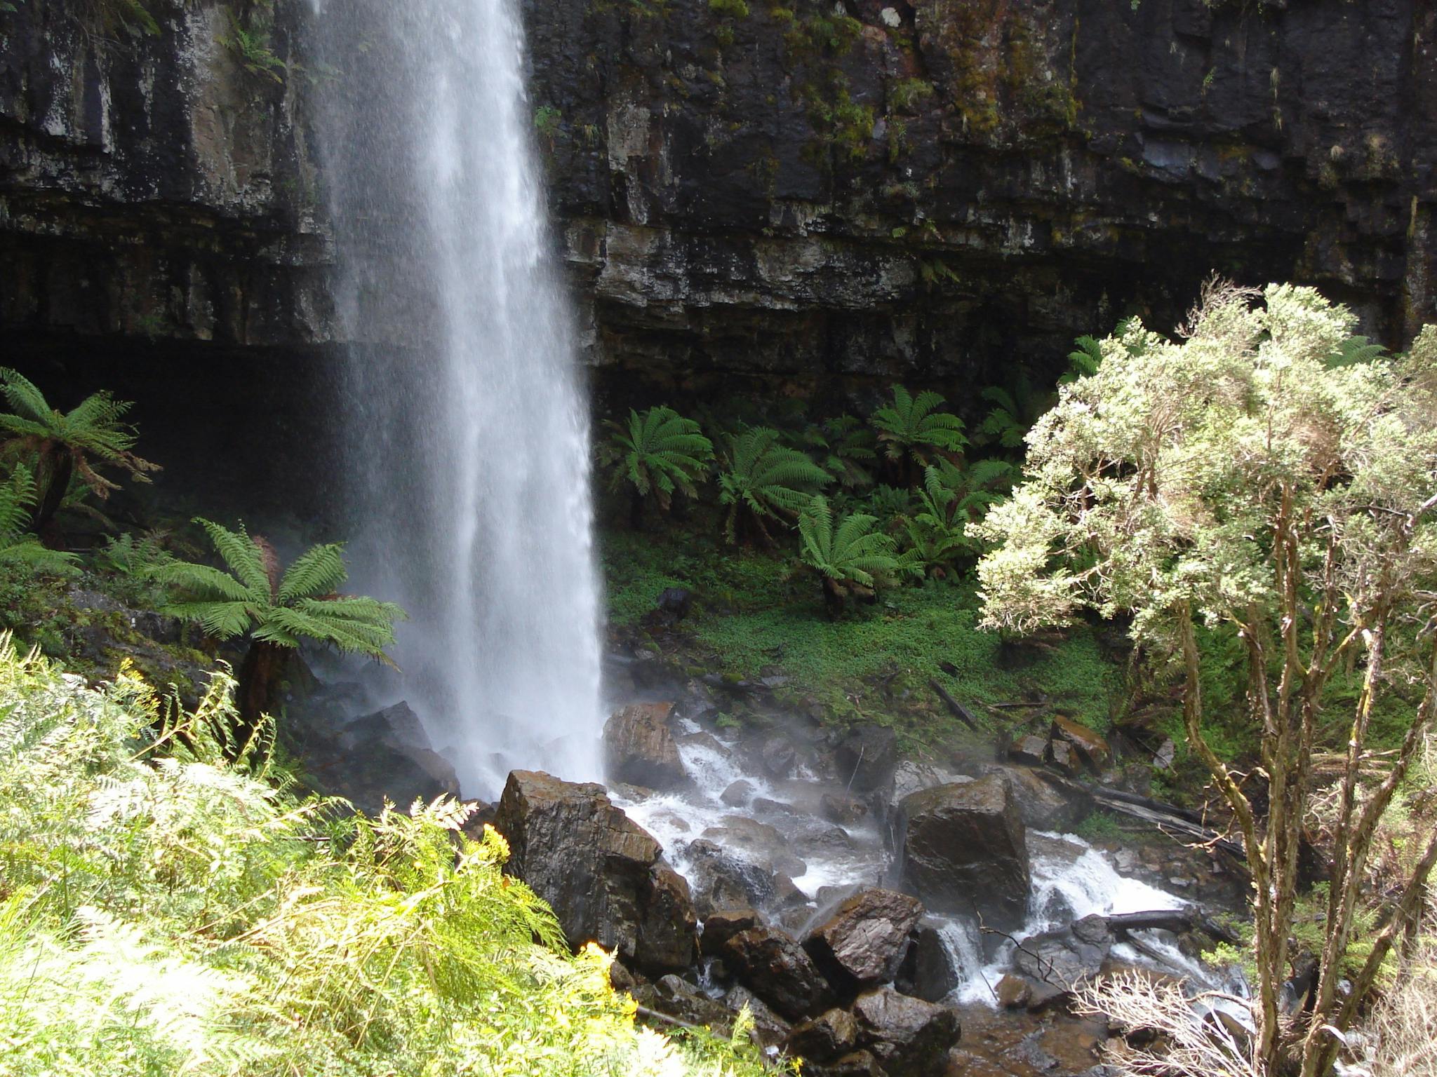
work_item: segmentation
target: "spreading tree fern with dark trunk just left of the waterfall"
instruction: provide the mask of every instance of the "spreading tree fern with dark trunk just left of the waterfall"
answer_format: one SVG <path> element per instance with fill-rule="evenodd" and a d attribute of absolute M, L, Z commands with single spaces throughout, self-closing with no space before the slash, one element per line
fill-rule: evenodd
<path fill-rule="evenodd" d="M 274 547 L 250 536 L 243 524 L 231 531 L 197 518 L 227 570 L 193 561 L 171 561 L 155 577 L 181 597 L 164 612 L 191 620 L 214 639 L 249 636 L 240 665 L 240 717 L 254 725 L 273 707 L 287 665 L 286 651 L 313 642 L 388 662 L 394 623 L 404 610 L 378 599 L 338 595 L 346 579 L 343 546 L 313 546 L 280 572 Z"/>

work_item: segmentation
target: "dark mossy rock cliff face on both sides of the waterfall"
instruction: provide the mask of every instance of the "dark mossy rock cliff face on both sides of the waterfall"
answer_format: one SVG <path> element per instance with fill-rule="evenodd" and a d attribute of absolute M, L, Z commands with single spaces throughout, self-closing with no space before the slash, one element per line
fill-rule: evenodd
<path fill-rule="evenodd" d="M 155 36 L 73 0 L 0 16 L 0 327 L 333 340 L 309 99 L 345 73 L 250 70 L 244 10 L 148 3 Z M 280 59 L 305 62 L 312 17 L 279 0 Z M 1214 269 L 1316 283 L 1391 345 L 1433 319 L 1424 0 L 526 0 L 526 19 L 589 359 L 625 379 L 1050 372 L 1128 313 L 1171 326 Z"/>

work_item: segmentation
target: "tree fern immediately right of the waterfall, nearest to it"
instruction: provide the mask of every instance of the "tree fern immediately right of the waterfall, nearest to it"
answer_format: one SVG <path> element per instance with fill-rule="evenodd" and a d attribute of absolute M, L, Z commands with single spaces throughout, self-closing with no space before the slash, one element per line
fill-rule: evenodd
<path fill-rule="evenodd" d="M 628 425 L 612 419 L 612 434 L 601 448 L 601 461 L 611 468 L 611 485 L 628 482 L 639 497 L 654 495 L 668 511 L 674 491 L 697 497 L 713 464 L 713 442 L 698 424 L 671 408 L 650 408 L 642 415 L 629 409 Z"/>

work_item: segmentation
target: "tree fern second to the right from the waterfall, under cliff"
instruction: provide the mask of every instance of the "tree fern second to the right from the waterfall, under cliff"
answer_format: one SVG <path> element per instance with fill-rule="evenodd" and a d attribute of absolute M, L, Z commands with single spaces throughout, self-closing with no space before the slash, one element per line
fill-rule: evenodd
<path fill-rule="evenodd" d="M 729 510 L 724 536 L 737 541 L 744 531 L 772 544 L 764 520 L 796 516 L 829 481 L 829 474 L 805 454 L 780 445 L 776 429 L 754 426 L 730 434 L 718 472 L 718 503 Z"/>

